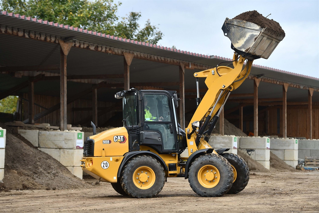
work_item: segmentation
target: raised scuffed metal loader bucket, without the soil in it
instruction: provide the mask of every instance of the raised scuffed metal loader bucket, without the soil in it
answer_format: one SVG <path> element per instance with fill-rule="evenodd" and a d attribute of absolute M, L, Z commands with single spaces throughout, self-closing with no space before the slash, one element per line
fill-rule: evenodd
<path fill-rule="evenodd" d="M 222 30 L 234 48 L 263 59 L 268 59 L 278 43 L 285 37 L 285 34 L 262 28 L 254 23 L 228 18 Z"/>

